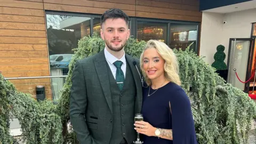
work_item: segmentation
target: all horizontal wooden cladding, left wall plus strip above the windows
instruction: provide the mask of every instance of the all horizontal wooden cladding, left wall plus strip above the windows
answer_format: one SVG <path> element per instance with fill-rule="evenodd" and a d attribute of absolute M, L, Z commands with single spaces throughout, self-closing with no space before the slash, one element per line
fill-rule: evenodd
<path fill-rule="evenodd" d="M 201 22 L 199 0 L 0 0 L 0 71 L 5 77 L 49 76 L 45 10 L 102 14 L 122 9 L 130 17 Z M 50 78 L 12 80 L 35 98 L 35 86 Z"/>

